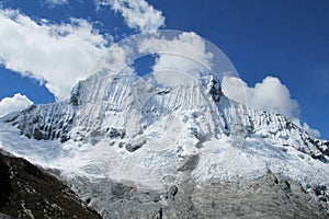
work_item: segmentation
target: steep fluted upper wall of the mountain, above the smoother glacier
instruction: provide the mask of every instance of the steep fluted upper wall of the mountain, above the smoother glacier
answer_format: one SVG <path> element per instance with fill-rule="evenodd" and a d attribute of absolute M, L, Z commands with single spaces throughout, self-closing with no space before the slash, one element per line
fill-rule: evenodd
<path fill-rule="evenodd" d="M 171 113 L 181 119 L 179 123 L 191 123 L 188 131 L 204 140 L 238 132 L 242 138 L 264 138 L 328 162 L 329 141 L 314 138 L 283 115 L 249 110 L 228 100 L 213 78 L 161 89 L 134 74 L 111 78 L 101 71 L 79 82 L 68 102 L 33 105 L 4 122 L 27 138 L 95 143 L 97 139 L 114 137 L 135 141 L 157 120 L 173 119 Z M 192 119 L 184 117 L 186 114 Z"/>

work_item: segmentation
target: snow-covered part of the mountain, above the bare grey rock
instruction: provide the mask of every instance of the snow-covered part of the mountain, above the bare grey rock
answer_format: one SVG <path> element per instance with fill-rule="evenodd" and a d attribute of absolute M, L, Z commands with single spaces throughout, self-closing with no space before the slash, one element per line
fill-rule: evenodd
<path fill-rule="evenodd" d="M 329 182 L 328 141 L 283 115 L 230 101 L 213 77 L 162 88 L 103 69 L 79 82 L 69 101 L 1 118 L 0 146 L 66 178 L 143 189 L 164 189 L 186 174 L 197 183 L 269 171 L 304 185 Z"/>

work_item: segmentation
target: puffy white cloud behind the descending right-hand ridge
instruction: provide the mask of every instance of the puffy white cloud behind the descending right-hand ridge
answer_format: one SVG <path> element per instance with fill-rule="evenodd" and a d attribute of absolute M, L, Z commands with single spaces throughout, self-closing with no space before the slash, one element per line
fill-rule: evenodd
<path fill-rule="evenodd" d="M 253 88 L 235 77 L 224 77 L 222 83 L 224 92 L 229 99 L 250 108 L 283 114 L 308 134 L 315 137 L 320 136 L 318 130 L 310 128 L 306 123 L 300 123 L 298 102 L 292 99 L 288 89 L 277 78 L 266 77 Z"/>

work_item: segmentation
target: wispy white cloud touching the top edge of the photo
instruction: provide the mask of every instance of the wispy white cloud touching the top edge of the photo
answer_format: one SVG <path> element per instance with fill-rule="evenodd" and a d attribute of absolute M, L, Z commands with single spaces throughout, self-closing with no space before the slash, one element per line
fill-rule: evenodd
<path fill-rule="evenodd" d="M 111 5 L 115 12 L 120 12 L 131 28 L 137 28 L 141 33 L 156 32 L 164 26 L 162 12 L 156 10 L 145 0 L 100 0 L 99 5 Z"/>

